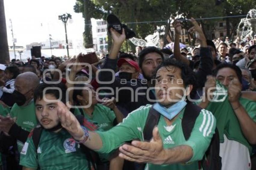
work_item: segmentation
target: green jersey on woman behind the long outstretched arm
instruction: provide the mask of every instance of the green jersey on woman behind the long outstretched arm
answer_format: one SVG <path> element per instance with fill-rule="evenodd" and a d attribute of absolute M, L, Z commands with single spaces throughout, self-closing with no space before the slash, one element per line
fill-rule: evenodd
<path fill-rule="evenodd" d="M 114 111 L 111 111 L 107 106 L 96 104 L 91 117 L 88 116 L 83 109 L 81 110 L 87 120 L 97 124 L 98 130 L 107 131 L 113 127 L 113 121 L 116 115 Z"/>

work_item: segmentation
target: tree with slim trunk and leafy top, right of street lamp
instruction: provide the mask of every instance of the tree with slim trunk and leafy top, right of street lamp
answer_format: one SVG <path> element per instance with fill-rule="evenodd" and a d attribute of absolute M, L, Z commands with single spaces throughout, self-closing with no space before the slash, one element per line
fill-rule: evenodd
<path fill-rule="evenodd" d="M 92 3 L 90 0 L 76 0 L 76 5 L 74 5 L 74 11 L 76 13 L 82 13 L 85 26 L 83 32 L 83 45 L 85 48 L 93 48 L 92 41 L 92 24 L 91 18 L 101 19 L 103 12 L 100 7 Z"/>

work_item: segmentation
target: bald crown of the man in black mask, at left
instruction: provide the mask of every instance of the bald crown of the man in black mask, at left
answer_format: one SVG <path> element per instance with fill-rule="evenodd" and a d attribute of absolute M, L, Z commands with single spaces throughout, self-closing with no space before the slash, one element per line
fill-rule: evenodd
<path fill-rule="evenodd" d="M 25 88 L 35 88 L 39 84 L 39 78 L 33 72 L 21 73 L 17 76 L 15 81 L 22 83 Z"/>

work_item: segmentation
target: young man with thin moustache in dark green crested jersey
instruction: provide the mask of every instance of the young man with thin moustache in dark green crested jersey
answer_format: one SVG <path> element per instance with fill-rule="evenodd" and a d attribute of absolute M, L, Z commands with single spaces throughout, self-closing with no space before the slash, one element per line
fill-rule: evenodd
<path fill-rule="evenodd" d="M 46 88 L 48 90 L 44 93 Z M 58 109 L 65 107 L 63 102 L 66 102 L 66 99 L 63 94 L 65 94 L 63 88 L 46 83 L 40 84 L 35 89 L 36 117 L 42 126 L 42 132 L 37 148 L 32 139 L 35 130 L 30 132 L 20 153 L 20 165 L 23 169 L 92 169 L 89 168 L 92 164 L 86 160 L 86 153 L 79 142 L 75 141 L 72 135 L 61 126 Z M 86 128 L 88 125 L 96 128 L 86 120 L 83 122 Z M 80 124 L 78 126 L 81 127 Z"/>

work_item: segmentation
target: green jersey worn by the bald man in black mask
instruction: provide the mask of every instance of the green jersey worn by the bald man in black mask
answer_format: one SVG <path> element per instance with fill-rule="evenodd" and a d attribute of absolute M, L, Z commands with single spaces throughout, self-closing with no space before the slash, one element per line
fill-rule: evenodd
<path fill-rule="evenodd" d="M 18 106 L 16 103 L 11 108 L 11 117 L 16 117 L 16 123 L 23 130 L 30 132 L 34 127 L 36 127 L 38 121 L 36 118 L 36 110 L 34 101 L 31 102 L 27 106 Z M 17 146 L 19 152 L 23 147 L 23 142 L 17 140 Z"/>

